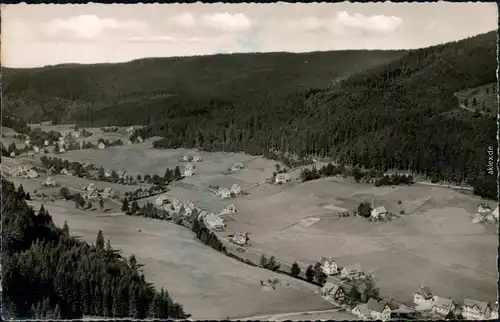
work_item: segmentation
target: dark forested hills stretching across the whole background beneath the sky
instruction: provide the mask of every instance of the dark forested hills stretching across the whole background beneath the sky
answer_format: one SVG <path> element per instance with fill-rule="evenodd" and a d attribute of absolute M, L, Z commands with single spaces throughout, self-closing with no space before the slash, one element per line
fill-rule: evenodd
<path fill-rule="evenodd" d="M 9 115 L 42 105 L 30 121 L 141 122 L 148 136 L 163 137 L 157 148 L 322 155 L 467 182 L 497 197 L 496 156 L 487 173 L 495 119 L 458 108 L 454 96 L 496 82 L 495 32 L 410 51 L 148 59 L 4 78 Z"/>

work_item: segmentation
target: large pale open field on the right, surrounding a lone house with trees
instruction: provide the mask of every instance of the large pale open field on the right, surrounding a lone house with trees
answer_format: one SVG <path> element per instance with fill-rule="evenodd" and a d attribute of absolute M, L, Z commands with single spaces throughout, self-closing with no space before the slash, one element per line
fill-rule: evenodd
<path fill-rule="evenodd" d="M 400 301 L 411 301 L 421 284 L 457 300 L 496 298 L 495 226 L 469 218 L 479 198 L 436 187 L 335 181 L 320 179 L 268 197 L 238 199 L 239 212 L 227 222 L 228 230 L 251 232 L 249 251 L 288 263 L 313 264 L 321 256 L 334 257 L 341 266 L 359 262 L 375 276 L 382 294 Z M 333 216 L 337 207 L 354 210 L 373 197 L 375 206 L 413 213 L 388 223 Z"/>

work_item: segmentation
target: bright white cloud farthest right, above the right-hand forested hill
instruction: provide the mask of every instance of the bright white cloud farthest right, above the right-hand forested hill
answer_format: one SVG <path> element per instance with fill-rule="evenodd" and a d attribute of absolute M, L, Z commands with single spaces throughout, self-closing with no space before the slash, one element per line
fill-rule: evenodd
<path fill-rule="evenodd" d="M 403 20 L 394 16 L 364 16 L 360 13 L 350 15 L 345 11 L 337 12 L 336 20 L 347 28 L 363 32 L 389 33 L 398 28 Z"/>

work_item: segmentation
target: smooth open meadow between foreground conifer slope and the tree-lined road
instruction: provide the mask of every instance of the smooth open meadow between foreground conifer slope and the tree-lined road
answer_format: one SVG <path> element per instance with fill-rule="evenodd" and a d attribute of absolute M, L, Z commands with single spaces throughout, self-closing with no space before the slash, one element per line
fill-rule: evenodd
<path fill-rule="evenodd" d="M 230 259 L 196 241 L 183 227 L 153 219 L 85 213 L 72 204 L 45 207 L 57 225 L 67 221 L 71 234 L 93 243 L 102 230 L 113 248 L 125 256 L 134 253 L 145 265 L 147 280 L 167 287 L 195 319 L 331 308 L 314 294 L 314 286 Z M 275 277 L 289 286 L 261 289 L 261 280 Z"/>

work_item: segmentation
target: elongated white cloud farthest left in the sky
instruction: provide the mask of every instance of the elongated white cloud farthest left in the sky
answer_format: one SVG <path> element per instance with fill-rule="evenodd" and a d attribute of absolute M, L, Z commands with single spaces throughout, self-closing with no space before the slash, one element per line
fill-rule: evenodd
<path fill-rule="evenodd" d="M 96 15 L 79 15 L 67 19 L 53 19 L 45 25 L 45 32 L 52 37 L 68 35 L 81 40 L 95 40 L 109 29 L 134 31 L 144 28 L 147 28 L 147 25 L 139 21 L 117 21 Z"/>

